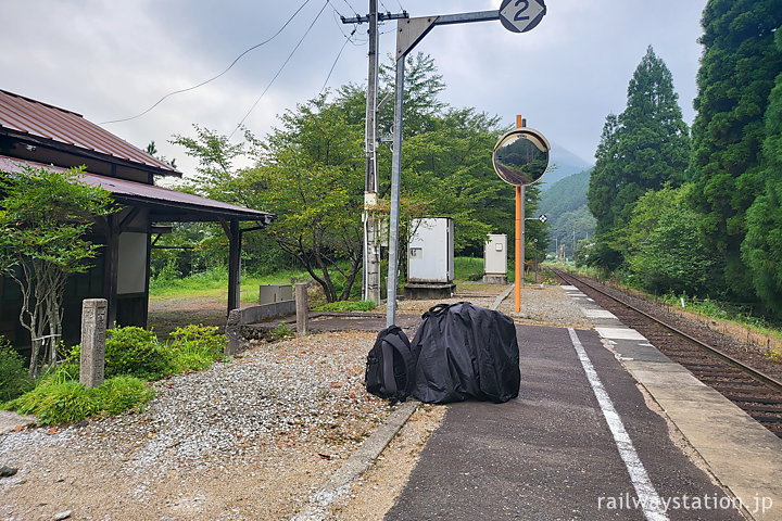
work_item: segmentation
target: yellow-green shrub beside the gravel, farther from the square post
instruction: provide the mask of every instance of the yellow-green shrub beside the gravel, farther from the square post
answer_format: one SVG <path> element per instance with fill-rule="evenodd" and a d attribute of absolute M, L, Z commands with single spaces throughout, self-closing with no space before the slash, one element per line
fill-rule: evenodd
<path fill-rule="evenodd" d="M 227 342 L 225 334 L 217 333 L 217 327 L 192 323 L 175 329 L 169 338 L 167 350 L 174 373 L 206 369 L 222 358 Z"/>

